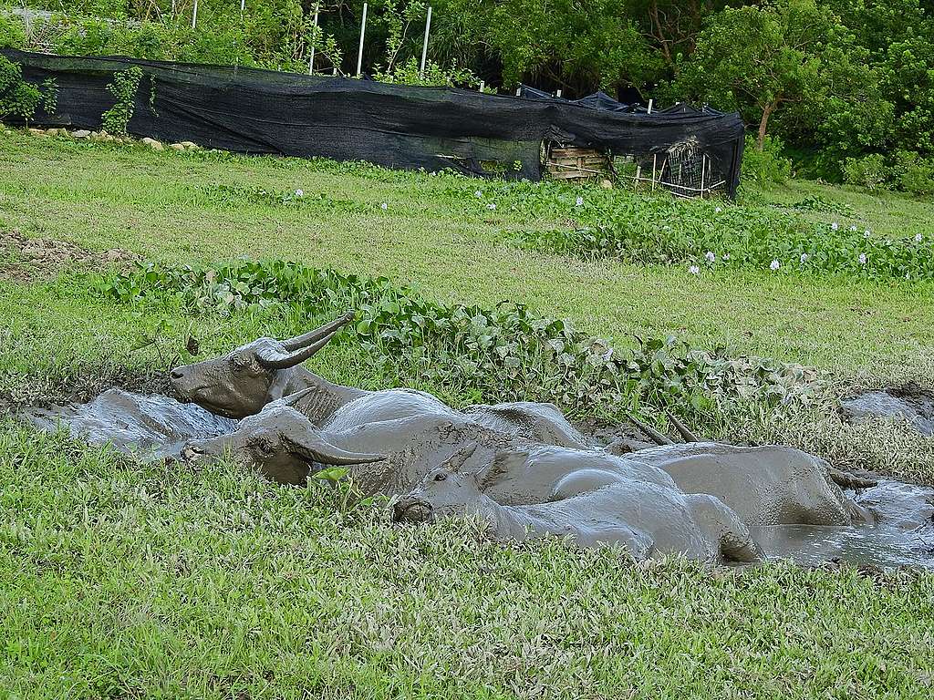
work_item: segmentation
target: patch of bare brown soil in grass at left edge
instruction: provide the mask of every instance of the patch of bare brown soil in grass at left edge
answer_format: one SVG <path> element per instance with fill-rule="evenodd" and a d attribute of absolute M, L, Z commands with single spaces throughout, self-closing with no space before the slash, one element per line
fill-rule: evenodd
<path fill-rule="evenodd" d="M 20 231 L 0 231 L 0 250 L 7 253 L 7 260 L 0 259 L 0 277 L 16 282 L 49 280 L 73 268 L 126 269 L 138 259 L 122 248 L 93 251 L 68 241 L 29 238 Z"/>

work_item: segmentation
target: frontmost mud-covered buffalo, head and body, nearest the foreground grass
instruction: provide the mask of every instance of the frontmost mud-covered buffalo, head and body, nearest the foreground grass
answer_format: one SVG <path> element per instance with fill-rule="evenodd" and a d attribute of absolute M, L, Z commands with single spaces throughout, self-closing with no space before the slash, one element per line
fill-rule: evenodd
<path fill-rule="evenodd" d="M 683 554 L 702 562 L 761 558 L 748 528 L 715 497 L 673 485 L 620 480 L 595 491 L 538 505 L 509 506 L 481 491 L 483 475 L 442 466 L 393 507 L 397 522 L 479 516 L 501 539 L 568 538 L 581 547 L 622 546 L 637 559 Z"/>

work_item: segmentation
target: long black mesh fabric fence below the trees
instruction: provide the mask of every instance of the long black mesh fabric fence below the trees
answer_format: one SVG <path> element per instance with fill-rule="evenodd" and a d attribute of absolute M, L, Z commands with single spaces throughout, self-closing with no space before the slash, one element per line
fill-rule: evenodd
<path fill-rule="evenodd" d="M 57 82 L 56 114 L 36 115 L 37 126 L 99 130 L 116 102 L 107 84 L 138 65 L 144 77 L 128 131 L 166 142 L 537 180 L 545 140 L 637 159 L 691 140 L 730 196 L 743 157 L 735 113 L 628 113 L 600 93 L 574 103 L 234 66 L 0 53 L 21 63 L 26 79 Z"/>

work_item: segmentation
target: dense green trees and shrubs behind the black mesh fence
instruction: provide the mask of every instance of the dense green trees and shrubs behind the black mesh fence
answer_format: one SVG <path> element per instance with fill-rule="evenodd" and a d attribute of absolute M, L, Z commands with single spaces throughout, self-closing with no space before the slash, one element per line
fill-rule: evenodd
<path fill-rule="evenodd" d="M 0 13 L 0 45 L 306 71 L 356 72 L 362 0 L 34 0 L 50 20 Z M 525 81 L 578 96 L 737 109 L 779 137 L 801 173 L 934 190 L 934 16 L 925 0 L 435 0 L 370 4 L 363 68 L 393 82 Z M 318 12 L 318 27 L 313 18 Z M 140 22 L 142 21 L 142 22 Z M 879 155 L 865 165 L 854 165 Z M 871 173 L 866 175 L 867 168 Z M 858 172 L 857 172 L 858 171 Z M 881 179 L 880 179 L 881 178 Z"/>

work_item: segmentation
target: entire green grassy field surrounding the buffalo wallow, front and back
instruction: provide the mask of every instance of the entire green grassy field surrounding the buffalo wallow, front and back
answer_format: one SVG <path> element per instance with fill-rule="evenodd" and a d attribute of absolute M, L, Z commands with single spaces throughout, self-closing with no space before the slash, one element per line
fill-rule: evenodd
<path fill-rule="evenodd" d="M 301 204 L 278 201 L 295 189 Z M 847 217 L 801 216 L 934 232 L 934 205 L 893 195 L 792 183 L 743 201 L 814 195 Z M 168 264 L 293 259 L 439 301 L 522 301 L 619 345 L 673 333 L 839 382 L 931 386 L 929 285 L 691 275 L 511 245 L 511 231 L 564 225 L 543 209 L 447 175 L 0 132 L 0 233 Z M 0 249 L 0 392 L 14 403 L 152 386 L 190 335 L 207 357 L 302 322 L 115 303 L 44 265 Z M 141 336 L 156 342 L 134 349 Z M 315 366 L 389 381 L 349 343 Z M 931 454 L 934 441 L 888 429 L 890 452 Z M 881 449 L 847 430 L 836 439 L 849 453 Z M 226 465 L 141 466 L 0 423 L 0 698 L 923 698 L 932 599 L 927 573 L 635 565 L 557 542 L 504 548 L 472 524 L 397 528 L 315 487 Z"/>

